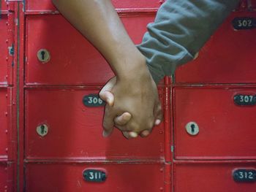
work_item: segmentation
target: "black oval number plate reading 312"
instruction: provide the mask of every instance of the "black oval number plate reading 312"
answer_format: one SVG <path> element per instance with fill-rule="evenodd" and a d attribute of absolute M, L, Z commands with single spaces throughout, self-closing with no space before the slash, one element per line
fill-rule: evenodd
<path fill-rule="evenodd" d="M 255 182 L 256 170 L 255 169 L 237 169 L 233 172 L 233 179 L 236 182 Z"/>

